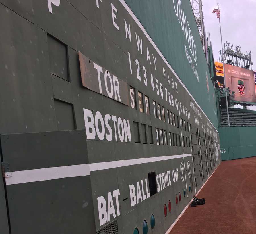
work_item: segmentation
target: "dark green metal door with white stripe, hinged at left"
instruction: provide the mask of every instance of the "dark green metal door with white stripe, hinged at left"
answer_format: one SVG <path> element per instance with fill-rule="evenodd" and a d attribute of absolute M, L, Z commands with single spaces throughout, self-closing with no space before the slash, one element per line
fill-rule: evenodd
<path fill-rule="evenodd" d="M 96 232 L 84 130 L 1 135 L 1 149 L 12 234 Z"/>

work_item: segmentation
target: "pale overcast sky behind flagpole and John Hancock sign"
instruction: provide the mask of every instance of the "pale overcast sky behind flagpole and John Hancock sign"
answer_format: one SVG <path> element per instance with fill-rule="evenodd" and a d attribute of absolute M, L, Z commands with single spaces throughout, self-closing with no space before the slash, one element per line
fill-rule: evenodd
<path fill-rule="evenodd" d="M 251 50 L 252 68 L 256 70 L 256 1 L 255 0 L 202 0 L 205 31 L 210 32 L 214 60 L 219 60 L 221 50 L 220 26 L 216 14 L 212 14 L 214 8 L 220 8 L 220 24 L 222 42 L 230 42 L 233 48 L 241 46 L 241 53 Z M 239 107 L 239 106 L 236 106 Z M 240 106 L 241 107 L 241 106 Z M 256 106 L 250 106 L 256 110 Z"/>

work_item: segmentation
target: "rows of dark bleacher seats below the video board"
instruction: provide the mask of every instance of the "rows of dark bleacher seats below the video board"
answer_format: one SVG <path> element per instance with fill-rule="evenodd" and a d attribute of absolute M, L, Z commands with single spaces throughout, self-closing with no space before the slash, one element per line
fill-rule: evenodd
<path fill-rule="evenodd" d="M 220 110 L 220 127 L 228 127 L 226 108 Z M 230 127 L 256 126 L 256 112 L 238 108 L 228 108 Z"/>

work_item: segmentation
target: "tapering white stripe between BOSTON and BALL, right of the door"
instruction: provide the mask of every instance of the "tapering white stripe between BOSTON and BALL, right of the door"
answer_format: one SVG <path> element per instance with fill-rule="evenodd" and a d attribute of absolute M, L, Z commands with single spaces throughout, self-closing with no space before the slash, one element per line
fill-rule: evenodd
<path fill-rule="evenodd" d="M 171 155 L 171 156 L 160 156 L 160 157 L 151 157 L 151 158 L 136 158 L 136 159 L 127 159 L 119 160 L 112 162 L 97 162 L 90 164 L 90 171 L 99 171 L 110 168 L 118 168 L 123 166 L 132 166 L 137 164 L 149 163 L 149 162 L 159 162 L 164 160 L 170 160 L 175 158 L 189 157 L 191 154 L 180 154 L 180 155 Z"/>

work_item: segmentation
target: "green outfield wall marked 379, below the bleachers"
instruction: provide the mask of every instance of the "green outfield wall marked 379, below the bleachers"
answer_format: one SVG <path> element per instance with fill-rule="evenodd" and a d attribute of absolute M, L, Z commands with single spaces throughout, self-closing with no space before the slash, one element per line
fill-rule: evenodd
<path fill-rule="evenodd" d="M 256 156 L 256 127 L 218 128 L 218 132 L 222 160 Z"/>

